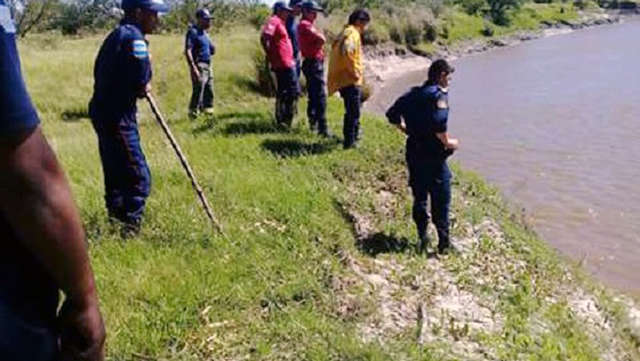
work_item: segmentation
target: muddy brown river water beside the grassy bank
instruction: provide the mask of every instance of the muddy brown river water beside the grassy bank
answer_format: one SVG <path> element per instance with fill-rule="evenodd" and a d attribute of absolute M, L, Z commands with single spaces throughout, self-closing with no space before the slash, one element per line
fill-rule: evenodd
<path fill-rule="evenodd" d="M 640 294 L 640 21 L 454 61 L 455 155 L 608 285 Z M 385 109 L 426 71 L 396 79 Z"/>

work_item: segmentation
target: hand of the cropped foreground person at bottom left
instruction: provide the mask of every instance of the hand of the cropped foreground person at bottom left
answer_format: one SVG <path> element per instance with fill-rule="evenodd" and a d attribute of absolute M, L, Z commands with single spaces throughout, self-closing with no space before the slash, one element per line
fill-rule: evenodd
<path fill-rule="evenodd" d="M 64 361 L 103 361 L 106 331 L 97 297 L 77 306 L 65 301 L 58 315 L 60 353 Z"/>

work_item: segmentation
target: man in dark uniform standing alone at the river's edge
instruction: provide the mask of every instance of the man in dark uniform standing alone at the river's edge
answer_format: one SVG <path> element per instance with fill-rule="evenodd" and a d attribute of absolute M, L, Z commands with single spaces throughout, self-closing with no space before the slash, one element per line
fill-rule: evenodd
<path fill-rule="evenodd" d="M 418 230 L 418 250 L 429 244 L 427 199 L 438 232 L 438 253 L 453 250 L 449 240 L 451 172 L 447 157 L 458 149 L 458 140 L 449 137 L 448 87 L 454 69 L 445 60 L 429 67 L 429 79 L 402 95 L 387 111 L 391 124 L 407 134 L 406 159 L 409 186 L 413 192 L 413 220 Z"/>

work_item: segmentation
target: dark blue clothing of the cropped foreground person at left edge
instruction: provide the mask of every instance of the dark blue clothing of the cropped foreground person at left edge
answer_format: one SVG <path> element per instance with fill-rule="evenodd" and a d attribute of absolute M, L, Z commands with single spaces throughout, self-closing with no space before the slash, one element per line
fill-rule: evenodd
<path fill-rule="evenodd" d="M 15 27 L 0 0 L 0 141 L 38 123 L 22 79 Z M 0 359 L 51 360 L 57 306 L 55 282 L 0 213 Z"/>

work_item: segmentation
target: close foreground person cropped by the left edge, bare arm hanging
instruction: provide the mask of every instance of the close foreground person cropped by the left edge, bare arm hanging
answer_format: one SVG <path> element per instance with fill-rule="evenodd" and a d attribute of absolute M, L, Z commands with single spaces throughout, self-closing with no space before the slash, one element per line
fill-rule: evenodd
<path fill-rule="evenodd" d="M 84 230 L 27 94 L 3 0 L 0 94 L 0 360 L 103 360 Z"/>

